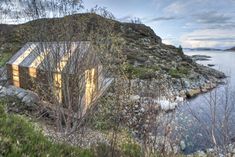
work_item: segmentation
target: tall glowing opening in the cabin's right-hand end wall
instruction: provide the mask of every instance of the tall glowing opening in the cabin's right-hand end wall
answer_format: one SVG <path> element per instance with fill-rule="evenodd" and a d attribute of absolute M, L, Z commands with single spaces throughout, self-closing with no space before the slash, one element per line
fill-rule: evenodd
<path fill-rule="evenodd" d="M 96 90 L 96 78 L 95 69 L 90 69 L 85 71 L 86 78 L 86 89 L 85 89 L 85 109 L 88 108 L 89 104 L 94 98 L 94 92 Z"/>

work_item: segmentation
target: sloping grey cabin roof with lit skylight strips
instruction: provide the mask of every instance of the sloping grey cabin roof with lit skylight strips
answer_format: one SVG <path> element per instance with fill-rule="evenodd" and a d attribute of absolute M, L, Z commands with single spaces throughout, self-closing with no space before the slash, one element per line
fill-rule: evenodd
<path fill-rule="evenodd" d="M 66 69 L 73 73 L 82 62 L 83 66 L 95 63 L 96 55 L 89 55 L 90 52 L 89 41 L 29 42 L 7 64 L 43 70 L 51 68 L 58 72 Z"/>

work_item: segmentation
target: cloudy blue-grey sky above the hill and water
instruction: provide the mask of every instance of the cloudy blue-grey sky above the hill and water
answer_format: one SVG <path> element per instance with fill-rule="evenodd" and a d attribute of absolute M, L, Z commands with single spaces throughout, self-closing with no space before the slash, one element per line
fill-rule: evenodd
<path fill-rule="evenodd" d="M 235 0 L 84 0 L 84 5 L 107 7 L 122 21 L 138 17 L 167 44 L 235 46 Z"/>

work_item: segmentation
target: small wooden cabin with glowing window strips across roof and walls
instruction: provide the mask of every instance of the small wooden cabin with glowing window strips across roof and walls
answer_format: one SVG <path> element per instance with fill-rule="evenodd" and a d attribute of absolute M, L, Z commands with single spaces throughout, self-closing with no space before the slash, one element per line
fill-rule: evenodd
<path fill-rule="evenodd" d="M 47 101 L 70 99 L 87 109 L 111 83 L 90 47 L 87 41 L 27 43 L 7 63 L 9 82 Z"/>

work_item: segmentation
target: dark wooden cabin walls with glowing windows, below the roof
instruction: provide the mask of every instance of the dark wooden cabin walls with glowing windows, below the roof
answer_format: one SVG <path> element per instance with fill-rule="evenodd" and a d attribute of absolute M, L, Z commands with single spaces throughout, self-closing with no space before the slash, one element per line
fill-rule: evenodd
<path fill-rule="evenodd" d="M 66 91 L 66 88 L 64 88 L 67 86 L 66 74 L 59 74 L 61 84 L 55 86 L 55 82 L 58 81 L 58 77 L 55 76 L 59 76 L 58 73 L 52 74 L 53 78 L 50 82 L 47 76 L 48 72 L 36 68 L 7 64 L 7 71 L 11 85 L 35 91 L 43 100 L 51 103 L 55 103 L 55 95 L 53 93 L 61 92 L 61 103 L 66 107 L 65 102 L 68 102 L 66 100 L 69 99 L 73 110 L 77 111 L 89 108 L 89 104 L 95 97 L 96 92 L 100 89 L 99 81 L 103 79 L 103 76 L 100 74 L 102 71 L 101 66 L 90 68 L 84 71 L 83 74 L 70 74 L 67 80 L 69 90 Z M 51 91 L 53 89 L 50 86 L 54 86 L 54 90 L 56 91 Z M 66 93 L 69 93 L 69 95 L 66 95 Z"/>

